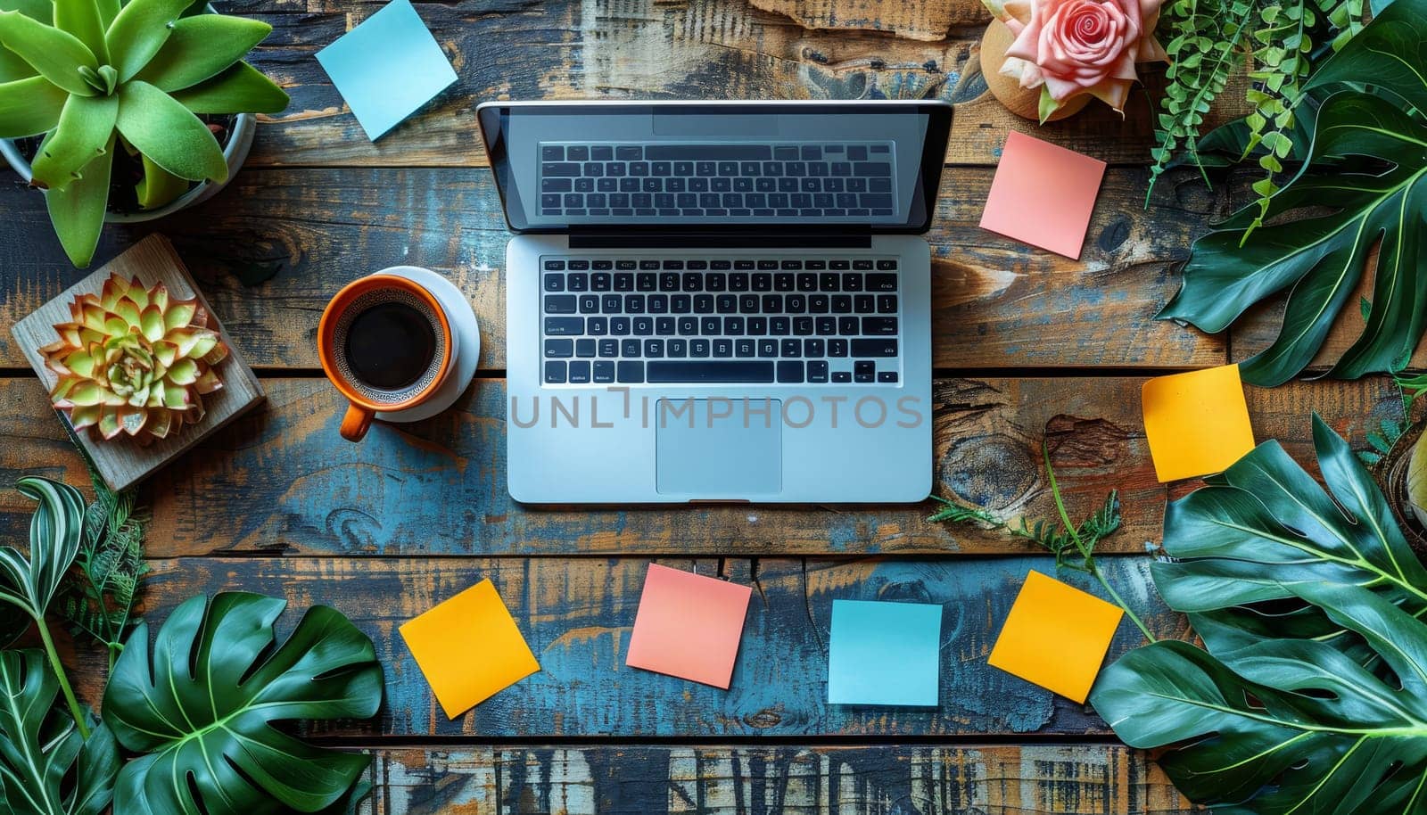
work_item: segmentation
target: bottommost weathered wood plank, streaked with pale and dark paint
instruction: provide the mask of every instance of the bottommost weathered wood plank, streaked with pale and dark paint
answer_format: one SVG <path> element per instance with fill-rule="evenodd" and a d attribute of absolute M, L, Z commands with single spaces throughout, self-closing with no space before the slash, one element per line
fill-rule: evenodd
<path fill-rule="evenodd" d="M 1192 812 L 1137 751 L 1007 746 L 377 749 L 358 812 L 1099 815 Z"/>

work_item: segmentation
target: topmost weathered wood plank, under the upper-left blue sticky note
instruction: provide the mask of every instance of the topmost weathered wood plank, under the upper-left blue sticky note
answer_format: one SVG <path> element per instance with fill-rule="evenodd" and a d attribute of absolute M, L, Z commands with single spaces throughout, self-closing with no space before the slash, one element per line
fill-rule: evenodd
<path fill-rule="evenodd" d="M 293 96 L 285 113 L 264 117 L 254 166 L 481 166 L 485 153 L 471 111 L 498 98 L 942 98 L 966 103 L 948 161 L 995 164 L 1005 131 L 1029 131 L 1035 123 L 1007 113 L 986 91 L 977 57 L 989 17 L 977 0 L 923 6 L 945 9 L 945 24 L 956 27 L 935 41 L 925 41 L 928 26 L 893 19 L 885 23 L 909 36 L 920 31 L 923 41 L 825 31 L 741 0 L 418 3 L 459 81 L 375 144 L 313 54 L 381 7 L 380 0 L 244 0 L 230 11 L 273 23 L 251 61 Z M 815 17 L 808 21 L 826 14 Z M 1123 120 L 1093 106 L 1037 133 L 1114 163 L 1146 163 L 1153 144 L 1143 94 L 1132 97 Z"/>

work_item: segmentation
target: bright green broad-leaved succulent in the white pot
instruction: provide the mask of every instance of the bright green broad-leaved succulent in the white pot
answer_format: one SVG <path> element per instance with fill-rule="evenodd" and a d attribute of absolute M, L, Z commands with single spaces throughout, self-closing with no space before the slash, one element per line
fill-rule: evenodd
<path fill-rule="evenodd" d="M 198 114 L 277 113 L 287 94 L 243 61 L 273 30 L 204 0 L 0 0 L 0 138 L 44 136 L 33 184 L 74 265 L 98 244 L 116 147 L 143 166 L 138 206 L 225 181 Z"/>

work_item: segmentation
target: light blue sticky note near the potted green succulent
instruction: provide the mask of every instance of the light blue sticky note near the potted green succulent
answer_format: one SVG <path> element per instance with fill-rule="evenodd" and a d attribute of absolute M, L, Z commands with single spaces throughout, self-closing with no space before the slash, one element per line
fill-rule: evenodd
<path fill-rule="evenodd" d="M 317 51 L 317 61 L 372 141 L 455 81 L 411 0 L 391 0 Z"/>

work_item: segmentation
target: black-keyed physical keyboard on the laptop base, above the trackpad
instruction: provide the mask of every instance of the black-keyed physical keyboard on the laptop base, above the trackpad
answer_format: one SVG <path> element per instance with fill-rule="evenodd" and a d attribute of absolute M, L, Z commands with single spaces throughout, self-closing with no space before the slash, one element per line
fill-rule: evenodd
<path fill-rule="evenodd" d="M 545 384 L 889 384 L 896 258 L 541 260 Z"/>

